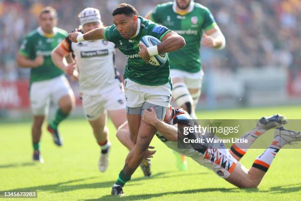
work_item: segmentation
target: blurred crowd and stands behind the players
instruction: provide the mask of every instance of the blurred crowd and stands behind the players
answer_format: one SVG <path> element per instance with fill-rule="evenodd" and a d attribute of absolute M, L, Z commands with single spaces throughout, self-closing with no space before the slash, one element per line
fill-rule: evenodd
<path fill-rule="evenodd" d="M 144 16 L 167 0 L 124 0 Z M 300 0 L 196 0 L 209 7 L 224 33 L 222 51 L 202 48 L 205 80 L 199 109 L 298 104 L 301 100 Z M 37 27 L 41 8 L 51 5 L 58 27 L 71 31 L 85 7 L 100 10 L 112 24 L 112 9 L 120 0 L 0 0 L 0 118 L 30 114 L 27 97 L 29 69 L 18 68 L 15 56 L 22 38 Z M 126 64 L 117 52 L 122 75 Z M 78 84 L 71 85 L 76 92 Z M 80 105 L 80 101 L 77 101 Z M 80 108 L 80 107 L 78 107 Z M 21 112 L 22 111 L 22 112 Z M 81 116 L 77 109 L 73 116 Z"/>

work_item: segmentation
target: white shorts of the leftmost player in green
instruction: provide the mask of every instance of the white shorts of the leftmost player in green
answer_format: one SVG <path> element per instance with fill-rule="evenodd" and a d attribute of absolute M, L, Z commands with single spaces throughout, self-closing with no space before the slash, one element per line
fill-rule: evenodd
<path fill-rule="evenodd" d="M 30 104 L 33 115 L 46 115 L 50 101 L 58 103 L 63 96 L 74 96 L 67 78 L 64 75 L 33 82 L 30 85 Z"/>

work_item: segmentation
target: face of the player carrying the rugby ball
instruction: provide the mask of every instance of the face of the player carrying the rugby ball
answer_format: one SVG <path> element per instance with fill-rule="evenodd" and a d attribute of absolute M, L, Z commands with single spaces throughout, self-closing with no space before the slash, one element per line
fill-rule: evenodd
<path fill-rule="evenodd" d="M 124 14 L 119 14 L 113 16 L 113 22 L 116 25 L 116 29 L 120 35 L 125 38 L 131 38 L 135 35 L 136 29 L 135 25 L 137 24 L 137 16 L 127 16 Z"/>

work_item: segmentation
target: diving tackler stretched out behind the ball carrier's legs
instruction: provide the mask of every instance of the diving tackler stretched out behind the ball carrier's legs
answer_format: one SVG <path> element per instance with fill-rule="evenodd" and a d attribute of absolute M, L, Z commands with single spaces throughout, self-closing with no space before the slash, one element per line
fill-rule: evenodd
<path fill-rule="evenodd" d="M 228 150 L 223 143 L 215 143 L 213 146 L 200 143 L 190 148 L 179 148 L 178 137 L 181 138 L 181 132 L 178 133 L 178 126 L 190 127 L 193 122 L 185 110 L 170 106 L 166 110 L 164 120 L 160 121 L 157 119 L 154 109 L 151 108 L 144 111 L 142 119 L 157 129 L 156 136 L 169 148 L 192 158 L 201 166 L 210 168 L 218 176 L 240 188 L 257 188 L 279 150 L 286 144 L 301 141 L 301 132 L 286 130 L 283 125 L 287 123 L 287 120 L 284 116 L 277 114 L 271 117 L 262 117 L 253 130 L 242 135 L 240 139 L 248 141 L 243 146 L 241 143 L 234 143 Z M 245 168 L 240 163 L 241 158 L 259 136 L 272 128 L 275 128 L 275 133 L 270 146 L 255 159 L 252 167 Z M 189 139 L 196 139 L 197 135 L 189 133 L 186 136 Z M 134 146 L 127 122 L 119 128 L 117 137 L 129 149 Z"/>

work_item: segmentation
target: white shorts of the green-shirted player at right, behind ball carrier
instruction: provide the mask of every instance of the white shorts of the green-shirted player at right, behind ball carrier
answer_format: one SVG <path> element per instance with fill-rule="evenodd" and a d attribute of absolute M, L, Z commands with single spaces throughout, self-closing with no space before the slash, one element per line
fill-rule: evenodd
<path fill-rule="evenodd" d="M 202 87 L 204 71 L 201 69 L 198 72 L 186 72 L 178 69 L 171 69 L 170 76 L 172 79 L 181 77 L 184 78 L 185 84 L 188 89 L 200 89 Z"/>

